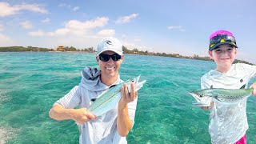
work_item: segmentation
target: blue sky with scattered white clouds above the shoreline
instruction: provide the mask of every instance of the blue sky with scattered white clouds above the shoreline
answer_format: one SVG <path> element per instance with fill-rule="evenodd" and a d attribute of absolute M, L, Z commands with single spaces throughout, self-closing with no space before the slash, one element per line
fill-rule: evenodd
<path fill-rule="evenodd" d="M 0 1 L 0 46 L 96 48 L 106 36 L 133 50 L 208 56 L 209 36 L 231 31 L 238 59 L 256 63 L 256 2 Z"/>

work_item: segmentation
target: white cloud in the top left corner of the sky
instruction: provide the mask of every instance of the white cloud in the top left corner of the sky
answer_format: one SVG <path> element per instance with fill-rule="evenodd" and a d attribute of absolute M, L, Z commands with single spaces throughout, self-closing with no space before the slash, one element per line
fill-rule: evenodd
<path fill-rule="evenodd" d="M 38 4 L 21 4 L 10 6 L 7 2 L 0 2 L 0 17 L 18 14 L 21 10 L 29 10 L 37 13 L 47 14 L 48 11 L 39 6 Z"/>

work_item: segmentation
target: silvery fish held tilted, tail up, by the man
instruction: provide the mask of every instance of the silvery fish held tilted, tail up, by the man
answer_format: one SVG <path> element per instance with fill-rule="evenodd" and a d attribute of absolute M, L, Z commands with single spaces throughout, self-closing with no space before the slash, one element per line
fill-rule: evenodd
<path fill-rule="evenodd" d="M 105 93 L 102 93 L 98 96 L 97 99 L 88 107 L 88 110 L 92 112 L 92 114 L 101 116 L 102 114 L 106 114 L 109 110 L 114 109 L 117 106 L 119 100 L 121 99 L 121 89 L 122 86 L 126 83 L 128 86 L 128 91 L 130 92 L 130 82 L 134 82 L 135 91 L 138 91 L 142 88 L 143 84 L 146 83 L 146 80 L 142 82 L 138 82 L 140 75 L 133 80 L 127 80 L 126 82 L 122 82 L 116 86 L 111 86 L 109 90 L 106 90 Z"/>

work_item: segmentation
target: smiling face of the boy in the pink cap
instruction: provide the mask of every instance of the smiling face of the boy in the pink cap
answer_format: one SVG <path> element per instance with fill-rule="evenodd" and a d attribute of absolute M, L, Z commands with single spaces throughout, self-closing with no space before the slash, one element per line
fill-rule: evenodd
<path fill-rule="evenodd" d="M 216 49 L 209 51 L 209 54 L 210 58 L 214 59 L 214 62 L 216 62 L 217 68 L 225 69 L 230 68 L 237 52 L 237 48 L 234 46 L 223 44 Z"/>

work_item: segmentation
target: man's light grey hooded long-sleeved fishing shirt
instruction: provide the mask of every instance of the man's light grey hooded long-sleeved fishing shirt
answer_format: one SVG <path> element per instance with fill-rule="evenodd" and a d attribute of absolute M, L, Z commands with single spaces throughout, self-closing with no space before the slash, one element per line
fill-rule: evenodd
<path fill-rule="evenodd" d="M 93 98 L 98 98 L 100 94 L 109 90 L 110 86 L 106 86 L 100 81 L 100 71 L 95 68 L 86 67 L 82 70 L 82 80 L 79 86 L 74 86 L 72 90 L 64 97 L 60 98 L 54 104 L 60 104 L 67 109 L 76 106 L 88 108 Z M 118 75 L 118 79 L 113 85 L 121 83 L 122 80 Z M 135 110 L 138 98 L 134 102 L 128 103 L 128 113 L 134 124 Z M 121 137 L 117 129 L 118 105 L 116 108 L 102 114 L 96 119 L 78 125 L 80 129 L 80 143 L 127 143 L 126 137 Z"/>

